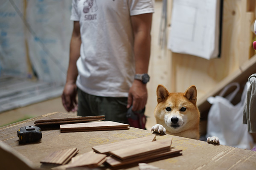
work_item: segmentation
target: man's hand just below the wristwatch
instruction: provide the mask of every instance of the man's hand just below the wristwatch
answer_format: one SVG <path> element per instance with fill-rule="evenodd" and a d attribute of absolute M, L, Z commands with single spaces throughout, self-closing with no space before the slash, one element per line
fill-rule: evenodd
<path fill-rule="evenodd" d="M 146 85 L 140 80 L 135 79 L 129 90 L 127 108 L 130 108 L 131 105 L 133 105 L 132 111 L 140 111 L 145 108 L 147 99 L 148 91 Z"/>

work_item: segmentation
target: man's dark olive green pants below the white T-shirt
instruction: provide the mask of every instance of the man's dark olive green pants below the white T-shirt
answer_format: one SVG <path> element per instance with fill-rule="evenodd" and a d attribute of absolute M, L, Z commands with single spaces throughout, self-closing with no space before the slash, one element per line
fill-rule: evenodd
<path fill-rule="evenodd" d="M 127 97 L 93 96 L 78 88 L 78 116 L 105 115 L 105 121 L 128 124 Z"/>

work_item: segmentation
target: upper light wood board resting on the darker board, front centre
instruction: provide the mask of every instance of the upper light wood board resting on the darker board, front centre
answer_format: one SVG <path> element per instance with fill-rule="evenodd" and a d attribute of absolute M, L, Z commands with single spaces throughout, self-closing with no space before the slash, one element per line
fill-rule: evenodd
<path fill-rule="evenodd" d="M 148 154 L 162 153 L 170 150 L 172 138 L 156 140 L 144 144 L 134 144 L 134 146 L 111 151 L 110 154 L 119 159 L 130 159 Z"/>

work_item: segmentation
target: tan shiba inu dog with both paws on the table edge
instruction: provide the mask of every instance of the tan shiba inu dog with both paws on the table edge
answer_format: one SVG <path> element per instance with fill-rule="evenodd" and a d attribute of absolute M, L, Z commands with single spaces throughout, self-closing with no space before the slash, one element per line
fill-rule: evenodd
<path fill-rule="evenodd" d="M 151 131 L 199 139 L 200 112 L 196 101 L 197 90 L 194 85 L 187 88 L 184 93 L 169 93 L 163 85 L 158 85 L 157 106 L 154 110 L 157 124 Z M 215 136 L 208 138 L 207 142 L 219 144 Z"/>

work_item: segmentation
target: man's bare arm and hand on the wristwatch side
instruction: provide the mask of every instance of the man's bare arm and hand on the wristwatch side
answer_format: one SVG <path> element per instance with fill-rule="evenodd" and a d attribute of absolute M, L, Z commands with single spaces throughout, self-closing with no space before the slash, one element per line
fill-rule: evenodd
<path fill-rule="evenodd" d="M 151 46 L 152 13 L 131 16 L 134 32 L 134 56 L 136 74 L 148 73 Z M 129 90 L 127 108 L 133 105 L 133 111 L 139 111 L 146 105 L 148 92 L 146 85 L 134 80 Z"/>

